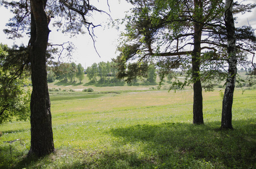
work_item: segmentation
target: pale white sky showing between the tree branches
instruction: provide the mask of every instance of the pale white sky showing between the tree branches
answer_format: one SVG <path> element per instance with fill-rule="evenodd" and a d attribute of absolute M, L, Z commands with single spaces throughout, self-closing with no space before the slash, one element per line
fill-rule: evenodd
<path fill-rule="evenodd" d="M 248 2 L 256 3 L 256 0 L 250 0 Z M 102 10 L 107 11 L 113 20 L 122 19 L 126 12 L 132 8 L 132 5 L 127 3 L 125 0 L 109 0 L 109 7 L 105 0 L 101 0 L 96 4 L 96 6 L 101 8 Z M 14 42 L 10 39 L 7 39 L 7 35 L 3 33 L 3 29 L 5 29 L 5 24 L 8 23 L 8 19 L 12 16 L 11 13 L 3 6 L 0 6 L 0 43 L 7 44 L 8 46 L 12 46 Z M 246 13 L 244 15 L 238 15 L 236 26 L 241 25 L 251 25 L 254 29 L 256 29 L 256 8 L 254 8 L 253 12 Z M 96 48 L 101 57 L 98 56 L 97 52 L 94 49 L 92 38 L 88 33 L 83 35 L 76 35 L 76 37 L 70 37 L 70 35 L 63 35 L 60 32 L 57 32 L 51 24 L 49 24 L 49 28 L 51 30 L 49 35 L 49 42 L 53 44 L 62 44 L 63 42 L 70 41 L 75 46 L 75 51 L 73 51 L 72 59 L 67 59 L 66 57 L 61 57 L 60 61 L 75 61 L 76 64 L 81 63 L 84 68 L 91 66 L 93 63 L 99 63 L 101 61 L 107 62 L 111 61 L 112 58 L 116 58 L 119 53 L 116 51 L 116 47 L 119 45 L 119 35 L 124 31 L 124 25 L 115 25 L 114 28 L 112 26 L 108 26 L 110 22 L 110 17 L 106 14 L 93 14 L 93 17 L 90 17 L 90 21 L 94 24 L 101 24 L 101 27 L 97 27 L 94 29 L 94 34 L 96 34 Z M 116 27 L 119 29 L 116 29 Z M 17 45 L 23 43 L 27 45 L 28 38 L 19 39 L 16 41 Z"/>

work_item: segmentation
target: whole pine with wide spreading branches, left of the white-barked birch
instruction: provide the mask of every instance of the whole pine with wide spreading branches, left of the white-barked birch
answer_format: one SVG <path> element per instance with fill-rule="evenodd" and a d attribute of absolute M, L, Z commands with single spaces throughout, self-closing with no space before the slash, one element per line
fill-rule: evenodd
<path fill-rule="evenodd" d="M 124 56 L 127 60 L 133 56 L 139 57 L 140 61 L 155 57 L 158 65 L 166 67 L 166 70 L 181 68 L 181 65 L 185 65 L 183 68 L 189 68 L 192 65 L 192 69 L 189 69 L 191 78 L 188 76 L 182 85 L 193 83 L 193 123 L 202 124 L 201 51 L 204 49 L 210 51 L 212 48 L 201 47 L 201 38 L 203 29 L 209 32 L 211 22 L 220 17 L 216 6 L 221 6 L 221 2 L 207 1 L 205 4 L 200 0 L 130 2 L 136 7 L 133 9 L 134 16 L 127 17 L 125 35 L 133 44 L 128 45 L 131 50 L 122 51 Z M 131 44 L 129 41 L 128 43 Z M 186 46 L 190 45 L 194 47 L 193 51 L 186 50 Z M 189 59 L 191 64 L 187 64 Z"/>

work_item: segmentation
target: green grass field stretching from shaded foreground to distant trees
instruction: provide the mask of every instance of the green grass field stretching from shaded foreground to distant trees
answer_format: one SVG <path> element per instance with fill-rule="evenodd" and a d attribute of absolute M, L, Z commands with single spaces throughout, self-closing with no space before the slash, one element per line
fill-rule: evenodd
<path fill-rule="evenodd" d="M 56 153 L 27 158 L 29 122 L 1 124 L 0 168 L 256 168 L 256 90 L 235 91 L 235 130 L 219 130 L 220 89 L 203 92 L 197 126 L 190 89 L 57 84 L 76 92 L 50 92 Z"/>

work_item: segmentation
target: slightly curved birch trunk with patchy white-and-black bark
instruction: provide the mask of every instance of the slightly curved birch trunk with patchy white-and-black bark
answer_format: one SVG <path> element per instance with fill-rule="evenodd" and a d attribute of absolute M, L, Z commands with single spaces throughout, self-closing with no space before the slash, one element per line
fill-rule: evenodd
<path fill-rule="evenodd" d="M 232 127 L 232 104 L 237 73 L 235 24 L 232 13 L 233 1 L 225 1 L 225 26 L 228 38 L 228 78 L 222 103 L 222 128 Z"/>

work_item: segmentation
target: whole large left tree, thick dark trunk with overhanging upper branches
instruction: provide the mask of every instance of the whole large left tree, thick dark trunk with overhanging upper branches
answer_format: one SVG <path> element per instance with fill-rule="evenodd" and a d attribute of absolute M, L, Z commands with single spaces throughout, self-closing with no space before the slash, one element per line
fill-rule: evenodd
<path fill-rule="evenodd" d="M 97 25 L 89 23 L 85 17 L 90 16 L 90 12 L 103 11 L 90 5 L 89 0 L 2 2 L 15 14 L 11 23 L 7 24 L 10 29 L 5 29 L 5 33 L 11 34 L 11 38 L 20 38 L 24 33 L 30 33 L 28 48 L 33 90 L 31 95 L 31 149 L 28 154 L 41 157 L 54 152 L 46 71 L 50 19 L 59 16 L 60 20 L 57 19 L 54 25 L 63 28 L 63 32 L 84 33 L 83 28 L 86 28 L 93 38 L 91 31 Z"/>

